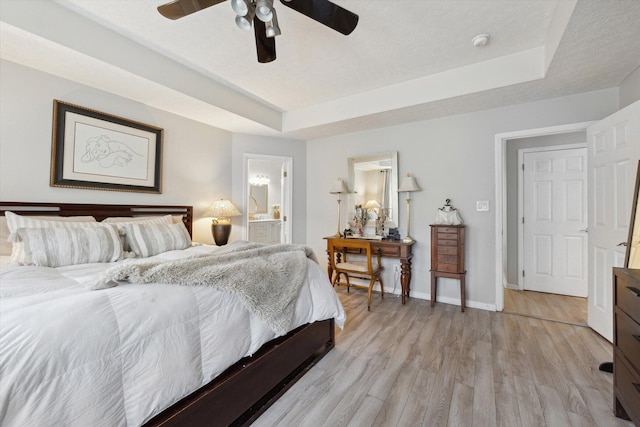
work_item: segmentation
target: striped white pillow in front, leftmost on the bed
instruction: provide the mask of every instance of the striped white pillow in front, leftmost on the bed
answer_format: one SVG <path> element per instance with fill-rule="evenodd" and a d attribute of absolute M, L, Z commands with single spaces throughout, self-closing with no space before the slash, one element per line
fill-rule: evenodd
<path fill-rule="evenodd" d="M 69 228 L 19 228 L 26 265 L 63 267 L 122 258 L 122 241 L 112 225 Z"/>

